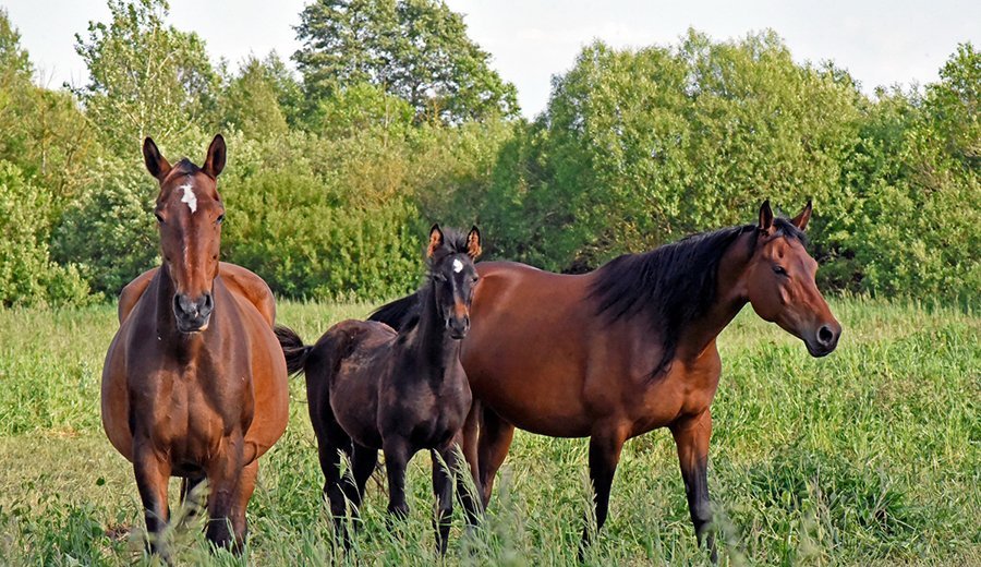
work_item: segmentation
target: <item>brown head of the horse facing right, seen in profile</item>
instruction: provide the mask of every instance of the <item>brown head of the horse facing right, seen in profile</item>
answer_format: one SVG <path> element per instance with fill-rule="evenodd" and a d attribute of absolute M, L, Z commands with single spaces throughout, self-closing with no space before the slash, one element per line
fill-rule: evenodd
<path fill-rule="evenodd" d="M 824 357 L 838 345 L 841 325 L 818 291 L 818 263 L 804 249 L 810 219 L 810 202 L 792 219 L 775 219 L 764 202 L 743 285 L 758 315 L 803 340 L 812 357 Z"/>

